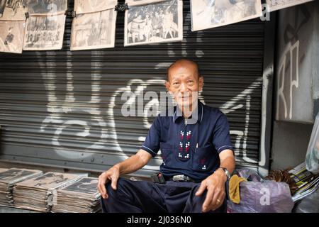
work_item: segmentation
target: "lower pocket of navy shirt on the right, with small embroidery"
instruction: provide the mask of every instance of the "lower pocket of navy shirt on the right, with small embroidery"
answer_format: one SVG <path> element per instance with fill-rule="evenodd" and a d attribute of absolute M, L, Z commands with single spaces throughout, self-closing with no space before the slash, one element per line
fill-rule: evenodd
<path fill-rule="evenodd" d="M 195 148 L 192 170 L 197 172 L 210 172 L 215 164 L 215 156 L 213 155 L 213 146 L 208 145 L 203 148 Z"/>

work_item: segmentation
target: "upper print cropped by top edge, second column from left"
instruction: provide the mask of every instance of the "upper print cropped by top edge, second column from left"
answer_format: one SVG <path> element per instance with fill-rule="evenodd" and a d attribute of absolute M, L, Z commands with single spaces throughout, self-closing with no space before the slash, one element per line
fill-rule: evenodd
<path fill-rule="evenodd" d="M 28 13 L 34 15 L 57 15 L 65 13 L 67 0 L 29 0 Z"/>

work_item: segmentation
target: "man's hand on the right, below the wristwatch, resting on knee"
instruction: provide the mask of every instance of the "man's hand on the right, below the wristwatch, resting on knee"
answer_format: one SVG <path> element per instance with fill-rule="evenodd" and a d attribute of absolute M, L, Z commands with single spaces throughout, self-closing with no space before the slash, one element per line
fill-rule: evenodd
<path fill-rule="evenodd" d="M 196 196 L 200 196 L 207 189 L 206 199 L 203 202 L 202 211 L 215 211 L 223 204 L 225 199 L 225 182 L 227 177 L 221 169 L 216 170 L 213 175 L 207 177 L 201 182 L 201 186 L 196 192 Z"/>

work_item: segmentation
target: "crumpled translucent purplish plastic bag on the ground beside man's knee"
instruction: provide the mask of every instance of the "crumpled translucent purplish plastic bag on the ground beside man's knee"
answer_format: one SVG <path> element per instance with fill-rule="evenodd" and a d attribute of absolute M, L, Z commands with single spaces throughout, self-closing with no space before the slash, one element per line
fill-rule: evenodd
<path fill-rule="evenodd" d="M 240 182 L 240 204 L 229 200 L 229 213 L 290 213 L 293 209 L 289 185 L 285 182 L 263 180 L 252 170 L 239 170 L 238 175 L 254 181 Z"/>

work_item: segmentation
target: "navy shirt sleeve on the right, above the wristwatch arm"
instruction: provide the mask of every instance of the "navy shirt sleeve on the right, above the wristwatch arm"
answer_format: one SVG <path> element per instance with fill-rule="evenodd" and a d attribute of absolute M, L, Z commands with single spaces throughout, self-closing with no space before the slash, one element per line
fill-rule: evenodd
<path fill-rule="evenodd" d="M 213 145 L 215 146 L 218 154 L 226 149 L 233 150 L 234 152 L 234 148 L 230 140 L 227 117 L 221 112 L 213 130 Z"/>

